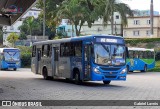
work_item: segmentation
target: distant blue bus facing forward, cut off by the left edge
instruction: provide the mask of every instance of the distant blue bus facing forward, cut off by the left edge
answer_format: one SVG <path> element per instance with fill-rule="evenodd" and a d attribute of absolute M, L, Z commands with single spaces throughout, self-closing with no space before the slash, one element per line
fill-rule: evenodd
<path fill-rule="evenodd" d="M 0 48 L 0 69 L 12 68 L 17 70 L 21 66 L 20 50 L 17 48 Z"/>

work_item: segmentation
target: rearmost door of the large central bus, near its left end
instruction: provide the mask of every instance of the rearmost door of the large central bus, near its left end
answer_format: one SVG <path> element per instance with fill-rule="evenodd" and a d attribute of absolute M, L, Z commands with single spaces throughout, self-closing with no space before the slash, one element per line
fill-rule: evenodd
<path fill-rule="evenodd" d="M 36 66 L 36 74 L 41 73 L 41 49 L 37 49 L 37 66 Z"/>

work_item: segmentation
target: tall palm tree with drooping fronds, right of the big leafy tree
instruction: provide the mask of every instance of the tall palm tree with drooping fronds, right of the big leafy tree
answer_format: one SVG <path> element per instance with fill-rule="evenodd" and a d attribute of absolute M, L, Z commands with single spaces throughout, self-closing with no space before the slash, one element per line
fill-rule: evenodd
<path fill-rule="evenodd" d="M 106 7 L 103 15 L 103 24 L 106 26 L 111 21 L 111 34 L 113 34 L 114 12 L 119 12 L 123 26 L 127 26 L 127 15 L 133 16 L 132 10 L 125 3 L 118 3 L 117 0 L 106 0 Z"/>

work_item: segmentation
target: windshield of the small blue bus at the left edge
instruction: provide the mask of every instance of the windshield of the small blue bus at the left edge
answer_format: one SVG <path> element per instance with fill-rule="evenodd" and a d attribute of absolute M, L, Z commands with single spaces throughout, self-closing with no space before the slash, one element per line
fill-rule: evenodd
<path fill-rule="evenodd" d="M 19 61 L 20 60 L 20 53 L 19 52 L 4 52 L 4 59 L 5 61 Z"/>

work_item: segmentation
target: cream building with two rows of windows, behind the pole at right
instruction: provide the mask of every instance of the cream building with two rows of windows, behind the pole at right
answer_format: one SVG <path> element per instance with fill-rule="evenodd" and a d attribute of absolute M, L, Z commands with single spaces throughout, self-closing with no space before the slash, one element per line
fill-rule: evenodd
<path fill-rule="evenodd" d="M 157 38 L 160 37 L 160 16 L 153 18 L 153 36 L 150 36 L 150 16 L 128 17 L 128 26 L 123 29 L 125 38 Z"/>

